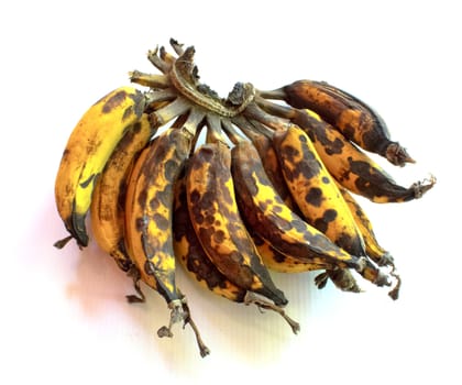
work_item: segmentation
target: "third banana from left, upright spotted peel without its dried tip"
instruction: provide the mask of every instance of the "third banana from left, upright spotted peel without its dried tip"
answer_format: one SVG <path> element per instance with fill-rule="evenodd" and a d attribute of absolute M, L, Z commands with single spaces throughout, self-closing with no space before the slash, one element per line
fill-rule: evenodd
<path fill-rule="evenodd" d="M 179 129 L 169 129 L 156 140 L 139 177 L 139 216 L 135 219 L 144 255 L 138 265 L 147 280 L 167 301 L 178 298 L 175 287 L 172 208 L 174 185 L 189 154 L 190 139 Z M 150 278 L 151 277 L 151 278 Z"/>

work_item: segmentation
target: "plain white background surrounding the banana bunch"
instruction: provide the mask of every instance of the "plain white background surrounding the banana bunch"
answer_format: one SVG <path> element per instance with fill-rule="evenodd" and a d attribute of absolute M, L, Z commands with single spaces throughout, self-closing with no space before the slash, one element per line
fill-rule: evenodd
<path fill-rule="evenodd" d="M 323 384 L 460 384 L 462 31 L 457 1 L 3 1 L 1 40 L 0 383 L 184 384 L 294 381 Z M 235 305 L 178 271 L 211 355 L 189 329 L 155 331 L 168 311 L 132 286 L 97 246 L 66 235 L 54 178 L 85 110 L 132 69 L 156 73 L 145 54 L 175 37 L 196 46 L 202 80 L 226 95 L 327 80 L 372 105 L 418 161 L 404 185 L 432 173 L 421 200 L 365 202 L 404 279 L 400 298 L 314 275 L 275 275 L 301 324 Z M 8 380 L 7 380 L 8 378 Z"/>

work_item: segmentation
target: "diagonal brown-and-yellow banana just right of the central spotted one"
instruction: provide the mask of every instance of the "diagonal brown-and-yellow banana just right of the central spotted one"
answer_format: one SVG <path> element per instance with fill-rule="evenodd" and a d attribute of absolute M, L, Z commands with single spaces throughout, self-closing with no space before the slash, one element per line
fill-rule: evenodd
<path fill-rule="evenodd" d="M 355 258 L 310 228 L 282 201 L 250 143 L 234 146 L 232 158 L 238 205 L 253 233 L 265 239 L 282 255 L 299 262 L 356 266 Z M 274 256 L 270 258 L 275 260 Z"/>

